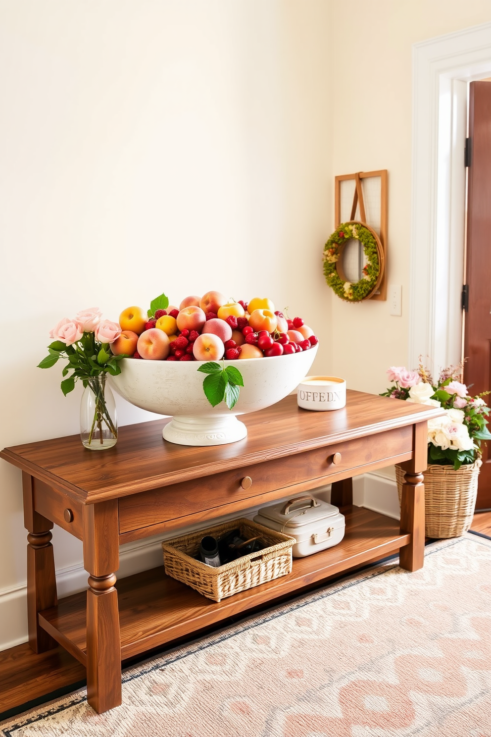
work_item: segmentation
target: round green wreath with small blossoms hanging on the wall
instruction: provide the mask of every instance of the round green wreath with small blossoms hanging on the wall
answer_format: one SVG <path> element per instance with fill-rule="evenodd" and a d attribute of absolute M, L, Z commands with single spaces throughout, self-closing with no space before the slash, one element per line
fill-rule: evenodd
<path fill-rule="evenodd" d="M 363 245 L 366 265 L 362 269 L 363 276 L 359 282 L 349 282 L 342 272 L 339 258 L 350 238 L 359 240 Z M 378 287 L 381 278 L 381 255 L 378 238 L 374 231 L 362 223 L 341 223 L 325 244 L 324 262 L 325 281 L 338 297 L 347 302 L 359 302 L 369 297 Z"/>

